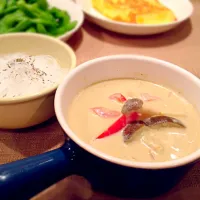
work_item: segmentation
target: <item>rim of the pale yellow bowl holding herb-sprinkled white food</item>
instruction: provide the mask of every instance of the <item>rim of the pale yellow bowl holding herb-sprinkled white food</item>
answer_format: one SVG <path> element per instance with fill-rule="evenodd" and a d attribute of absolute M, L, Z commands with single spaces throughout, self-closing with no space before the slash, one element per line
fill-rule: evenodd
<path fill-rule="evenodd" d="M 28 36 L 30 38 L 35 37 L 35 38 L 49 40 L 49 42 L 54 42 L 57 45 L 64 47 L 66 49 L 66 51 L 69 52 L 69 55 L 71 57 L 72 64 L 71 64 L 70 70 L 72 68 L 76 67 L 76 55 L 75 55 L 73 49 L 68 44 L 65 44 L 61 40 L 58 40 L 54 37 L 43 35 L 43 34 L 38 34 L 38 33 L 6 33 L 6 34 L 0 35 L 0 41 L 3 38 L 23 37 L 23 36 Z M 67 73 L 69 73 L 69 72 L 67 72 Z M 57 89 L 59 84 L 60 83 L 54 84 L 52 87 L 48 87 L 48 88 L 42 90 L 41 92 L 33 94 L 33 95 L 21 96 L 21 97 L 16 97 L 16 98 L 0 98 L 0 105 L 15 104 L 15 103 L 32 101 L 34 99 L 41 98 L 45 95 L 53 93 Z"/>

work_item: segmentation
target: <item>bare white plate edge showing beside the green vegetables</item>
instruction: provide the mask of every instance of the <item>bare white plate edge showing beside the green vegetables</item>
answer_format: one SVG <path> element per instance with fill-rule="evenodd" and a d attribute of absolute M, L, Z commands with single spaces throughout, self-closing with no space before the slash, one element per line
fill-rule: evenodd
<path fill-rule="evenodd" d="M 50 6 L 55 6 L 62 10 L 66 10 L 70 15 L 71 20 L 78 21 L 76 27 L 73 30 L 66 32 L 64 35 L 59 36 L 59 39 L 63 41 L 68 40 L 75 32 L 78 31 L 78 29 L 83 24 L 84 14 L 82 8 L 71 0 L 48 0 L 48 3 Z"/>

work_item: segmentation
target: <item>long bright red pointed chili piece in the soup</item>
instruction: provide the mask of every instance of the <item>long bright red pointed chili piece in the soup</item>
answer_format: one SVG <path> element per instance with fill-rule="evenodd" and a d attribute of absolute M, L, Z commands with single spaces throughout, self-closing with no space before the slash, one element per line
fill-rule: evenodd
<path fill-rule="evenodd" d="M 117 121 L 115 121 L 106 131 L 100 134 L 97 139 L 105 138 L 114 133 L 117 133 L 123 129 L 128 123 L 136 121 L 139 117 L 137 112 L 131 113 L 129 116 L 122 115 Z"/>

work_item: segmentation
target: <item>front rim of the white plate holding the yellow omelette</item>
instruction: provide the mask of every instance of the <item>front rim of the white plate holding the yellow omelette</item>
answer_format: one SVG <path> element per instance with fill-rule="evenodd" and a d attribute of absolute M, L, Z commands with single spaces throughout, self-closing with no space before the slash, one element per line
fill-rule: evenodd
<path fill-rule="evenodd" d="M 194 12 L 193 4 L 191 3 L 190 0 L 184 0 L 184 1 L 188 2 L 189 5 L 191 6 L 191 12 L 188 15 L 185 15 L 185 17 L 183 17 L 182 19 L 178 19 L 176 21 L 169 22 L 169 23 L 163 23 L 163 24 L 134 24 L 134 23 L 127 23 L 127 22 L 118 22 L 118 21 L 111 20 L 109 18 L 101 18 L 99 16 L 95 16 L 85 9 L 83 9 L 83 12 L 91 18 L 94 18 L 94 19 L 96 18 L 105 23 L 111 23 L 114 25 L 119 25 L 119 26 L 124 26 L 124 27 L 134 27 L 134 28 L 135 27 L 137 27 L 137 28 L 165 27 L 165 26 L 170 26 L 170 25 L 178 25 L 178 24 L 182 23 L 183 21 L 189 19 L 192 16 L 192 14 Z"/>

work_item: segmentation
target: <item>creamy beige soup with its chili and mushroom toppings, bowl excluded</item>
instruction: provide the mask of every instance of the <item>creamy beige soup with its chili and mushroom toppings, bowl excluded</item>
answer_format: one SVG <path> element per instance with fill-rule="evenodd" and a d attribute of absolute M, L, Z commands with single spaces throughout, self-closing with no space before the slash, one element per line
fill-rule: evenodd
<path fill-rule="evenodd" d="M 131 116 L 124 112 L 131 105 L 125 104 L 132 100 L 136 107 L 131 112 L 137 116 L 122 126 L 123 116 Z M 116 79 L 91 85 L 74 98 L 67 121 L 80 139 L 122 159 L 169 161 L 199 148 L 195 107 L 178 92 L 147 81 Z"/>

